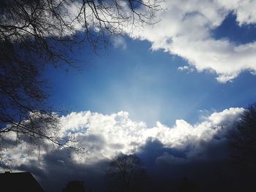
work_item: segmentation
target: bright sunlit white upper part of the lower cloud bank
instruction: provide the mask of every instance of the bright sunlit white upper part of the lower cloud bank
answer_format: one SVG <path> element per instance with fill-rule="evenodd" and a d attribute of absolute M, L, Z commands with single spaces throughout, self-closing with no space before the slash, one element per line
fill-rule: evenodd
<path fill-rule="evenodd" d="M 138 152 L 149 139 L 151 141 L 159 140 L 164 147 L 181 151 L 186 150 L 189 146 L 192 150 L 187 152 L 187 158 L 193 158 L 205 150 L 205 144 L 211 142 L 213 137 L 222 137 L 224 135 L 222 132 L 232 125 L 243 111 L 243 108 L 230 108 L 222 112 L 214 112 L 203 122 L 194 125 L 185 120 L 176 120 L 176 124 L 172 127 L 157 122 L 153 128 L 148 128 L 146 123 L 129 119 L 128 112 L 118 112 L 112 115 L 103 115 L 97 112 L 72 112 L 61 117 L 61 134 L 75 137 L 83 147 L 86 147 L 89 151 L 86 156 L 87 164 L 113 158 L 118 153 Z M 204 144 L 202 145 L 202 143 Z M 37 160 L 38 154 L 26 155 L 28 150 L 29 148 L 18 145 L 12 147 L 12 150 L 6 151 L 5 155 L 12 158 L 16 166 L 29 164 L 29 162 Z M 67 150 L 62 151 L 67 153 Z M 44 154 L 47 153 L 41 155 Z M 67 159 L 61 158 L 61 155 L 55 158 L 61 164 L 66 164 Z M 79 157 L 72 155 L 72 158 L 76 161 Z M 165 154 L 160 159 L 162 161 L 164 159 L 178 161 L 180 158 Z"/>

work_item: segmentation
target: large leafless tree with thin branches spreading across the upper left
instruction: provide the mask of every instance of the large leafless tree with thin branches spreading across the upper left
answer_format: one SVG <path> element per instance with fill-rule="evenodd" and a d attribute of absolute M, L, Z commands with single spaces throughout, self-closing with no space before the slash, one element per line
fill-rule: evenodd
<path fill-rule="evenodd" d="M 10 133 L 37 146 L 66 144 L 46 104 L 45 65 L 74 66 L 74 45 L 105 47 L 109 35 L 153 24 L 158 9 L 153 0 L 1 0 L 0 150 Z"/>

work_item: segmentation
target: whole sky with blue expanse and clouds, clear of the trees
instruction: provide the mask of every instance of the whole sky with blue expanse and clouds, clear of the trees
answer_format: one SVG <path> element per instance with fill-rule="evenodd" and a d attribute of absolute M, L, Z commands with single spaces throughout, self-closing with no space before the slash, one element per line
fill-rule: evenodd
<path fill-rule="evenodd" d="M 136 153 L 152 175 L 176 179 L 223 166 L 227 131 L 256 98 L 256 1 L 162 7 L 159 23 L 111 37 L 99 55 L 75 51 L 80 70 L 48 66 L 42 75 L 48 104 L 64 109 L 60 135 L 86 147 L 86 162 L 63 149 L 35 163 L 37 154 L 17 146 L 7 152 L 18 162 L 14 169 L 30 170 L 48 191 L 73 177 L 101 191 L 97 183 L 118 153 Z"/>

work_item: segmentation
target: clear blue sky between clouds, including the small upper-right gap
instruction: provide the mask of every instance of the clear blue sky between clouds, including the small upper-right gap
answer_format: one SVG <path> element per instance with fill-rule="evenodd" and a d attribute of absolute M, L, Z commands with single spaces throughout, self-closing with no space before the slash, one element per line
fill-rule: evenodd
<path fill-rule="evenodd" d="M 254 27 L 239 27 L 235 21 L 233 15 L 227 16 L 213 36 L 236 37 L 240 44 L 255 38 Z M 236 30 L 230 30 L 230 26 Z M 178 70 L 187 66 L 187 61 L 163 50 L 151 50 L 150 42 L 124 37 L 122 43 L 125 47 L 108 47 L 99 55 L 79 50 L 75 58 L 84 64 L 79 71 L 48 69 L 45 78 L 53 91 L 50 102 L 69 112 L 127 111 L 132 120 L 148 126 L 158 120 L 172 126 L 176 119 L 196 123 L 211 112 L 247 107 L 255 101 L 256 78 L 249 72 L 221 83 L 215 80 L 214 72 Z"/>

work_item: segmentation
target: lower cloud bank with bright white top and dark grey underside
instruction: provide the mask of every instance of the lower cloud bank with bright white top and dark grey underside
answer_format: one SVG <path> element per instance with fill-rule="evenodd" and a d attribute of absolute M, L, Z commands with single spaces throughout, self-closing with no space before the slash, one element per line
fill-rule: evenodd
<path fill-rule="evenodd" d="M 88 177 L 86 180 L 90 180 L 90 177 L 99 174 L 104 178 L 108 161 L 118 153 L 137 153 L 143 161 L 159 166 L 222 158 L 222 150 L 219 149 L 225 146 L 225 131 L 241 112 L 244 112 L 243 108 L 230 108 L 214 112 L 200 123 L 176 120 L 174 126 L 157 122 L 152 128 L 148 128 L 146 123 L 129 119 L 128 112 L 111 115 L 71 112 L 61 117 L 60 135 L 72 136 L 80 141 L 88 154 L 81 157 L 66 148 L 48 150 L 41 154 L 42 159 L 37 162 L 38 154 L 29 153 L 29 148 L 21 144 L 13 146 L 5 155 L 15 161 L 12 169 L 31 171 L 39 180 L 42 179 L 42 183 L 51 183 L 47 178 L 55 175 L 56 179 L 45 185 L 56 189 L 55 183 L 64 185 L 74 177 L 78 180 Z"/>

